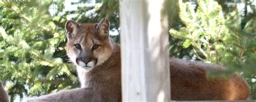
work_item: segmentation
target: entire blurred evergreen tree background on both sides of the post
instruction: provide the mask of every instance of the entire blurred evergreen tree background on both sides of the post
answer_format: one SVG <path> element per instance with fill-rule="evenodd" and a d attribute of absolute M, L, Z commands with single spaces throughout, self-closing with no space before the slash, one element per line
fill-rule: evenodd
<path fill-rule="evenodd" d="M 224 74 L 238 73 L 247 80 L 250 98 L 256 99 L 255 4 L 166 0 L 170 57 L 225 66 L 229 70 Z M 117 0 L 0 1 L 0 79 L 11 101 L 79 87 L 66 56 L 65 22 L 97 23 L 103 17 L 119 43 Z"/>

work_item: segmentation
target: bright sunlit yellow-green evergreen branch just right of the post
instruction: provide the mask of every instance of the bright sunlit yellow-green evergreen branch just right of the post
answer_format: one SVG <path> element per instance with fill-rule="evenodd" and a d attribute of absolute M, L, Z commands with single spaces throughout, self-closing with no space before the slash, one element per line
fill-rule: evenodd
<path fill-rule="evenodd" d="M 224 47 L 219 42 L 220 38 L 228 36 L 225 19 L 217 2 L 199 1 L 198 4 L 195 12 L 190 3 L 179 3 L 180 18 L 185 26 L 181 26 L 179 30 L 171 29 L 170 33 L 176 38 L 184 39 L 184 48 L 192 45 L 197 58 L 213 63 L 216 58 L 218 61 L 218 51 Z"/>

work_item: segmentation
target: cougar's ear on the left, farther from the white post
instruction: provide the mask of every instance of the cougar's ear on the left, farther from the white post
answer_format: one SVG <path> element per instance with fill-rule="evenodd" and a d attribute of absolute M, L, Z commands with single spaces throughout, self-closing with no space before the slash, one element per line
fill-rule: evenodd
<path fill-rule="evenodd" d="M 77 30 L 80 28 L 79 24 L 75 21 L 69 20 L 65 24 L 66 36 L 70 39 L 73 35 L 77 33 Z"/>

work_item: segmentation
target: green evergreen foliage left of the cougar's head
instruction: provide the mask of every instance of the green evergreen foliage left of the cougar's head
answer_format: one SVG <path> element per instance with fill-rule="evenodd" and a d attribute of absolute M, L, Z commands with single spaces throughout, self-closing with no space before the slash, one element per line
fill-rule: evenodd
<path fill-rule="evenodd" d="M 0 2 L 1 80 L 11 101 L 16 95 L 40 96 L 78 87 L 73 67 L 66 63 L 66 18 L 51 16 L 52 2 Z M 62 9 L 59 6 L 58 9 Z"/>

